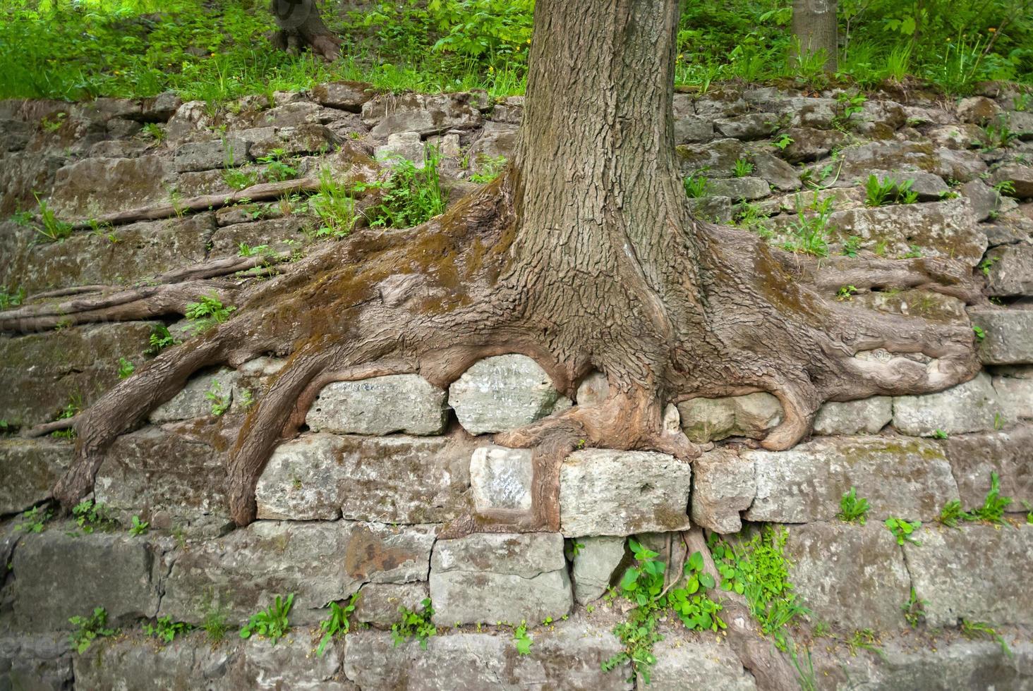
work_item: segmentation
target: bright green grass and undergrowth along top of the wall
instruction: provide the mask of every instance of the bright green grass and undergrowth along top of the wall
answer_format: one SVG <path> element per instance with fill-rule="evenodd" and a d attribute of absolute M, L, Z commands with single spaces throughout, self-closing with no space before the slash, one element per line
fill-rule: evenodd
<path fill-rule="evenodd" d="M 920 8 L 871 0 L 840 3 L 837 84 L 874 87 L 916 76 L 951 94 L 982 80 L 1033 83 L 1033 17 L 1022 0 Z M 175 90 L 224 102 L 303 90 L 328 80 L 386 91 L 524 92 L 533 0 L 397 0 L 323 17 L 343 39 L 327 65 L 288 56 L 265 38 L 259 0 L 0 0 L 0 98 L 143 97 Z M 920 31 L 915 12 L 920 11 Z M 717 82 L 828 81 L 788 60 L 789 0 L 685 3 L 676 83 L 706 92 Z M 847 22 L 849 21 L 849 31 Z M 813 61 L 811 61 L 813 62 Z"/>

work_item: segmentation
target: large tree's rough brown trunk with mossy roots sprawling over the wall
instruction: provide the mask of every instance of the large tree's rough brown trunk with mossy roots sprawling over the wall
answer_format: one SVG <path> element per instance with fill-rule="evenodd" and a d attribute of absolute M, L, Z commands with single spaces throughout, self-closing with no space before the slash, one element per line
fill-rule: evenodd
<path fill-rule="evenodd" d="M 692 218 L 672 137 L 678 4 L 538 0 L 527 106 L 505 174 L 422 226 L 359 231 L 237 287 L 231 319 L 164 351 L 79 416 L 75 459 L 55 497 L 67 507 L 91 492 L 115 438 L 191 374 L 261 354 L 288 359 L 229 451 L 239 525 L 255 517 L 255 483 L 273 449 L 298 434 L 331 381 L 417 372 L 447 386 L 478 358 L 507 352 L 536 358 L 568 395 L 592 370 L 607 376 L 602 405 L 496 435 L 535 449 L 530 520 L 467 516 L 445 534 L 558 530 L 559 463 L 577 440 L 694 458 L 681 432 L 664 430 L 671 403 L 770 391 L 784 421 L 761 443 L 784 449 L 810 432 L 823 401 L 930 392 L 972 377 L 966 325 L 835 300 L 847 282 L 971 295 L 968 268 L 874 257 L 818 264 Z M 216 273 L 188 276 L 199 292 L 214 279 L 197 277 Z M 168 292 L 120 297 L 117 318 L 152 315 L 158 300 L 181 311 L 182 296 Z M 71 302 L 70 311 L 91 314 L 112 301 Z M 0 314 L 0 327 L 26 319 L 24 309 Z M 876 349 L 890 355 L 869 356 Z M 790 688 L 784 661 L 747 619 L 730 624 L 747 641 L 744 664 L 768 688 Z"/>

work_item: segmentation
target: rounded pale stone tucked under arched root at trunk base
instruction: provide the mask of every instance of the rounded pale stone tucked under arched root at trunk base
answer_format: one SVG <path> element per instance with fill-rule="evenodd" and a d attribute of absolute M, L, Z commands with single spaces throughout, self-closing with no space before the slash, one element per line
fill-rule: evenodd
<path fill-rule="evenodd" d="M 553 413 L 561 399 L 541 366 L 518 354 L 478 360 L 448 387 L 448 403 L 470 434 L 523 427 Z"/>

